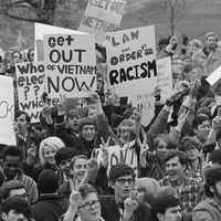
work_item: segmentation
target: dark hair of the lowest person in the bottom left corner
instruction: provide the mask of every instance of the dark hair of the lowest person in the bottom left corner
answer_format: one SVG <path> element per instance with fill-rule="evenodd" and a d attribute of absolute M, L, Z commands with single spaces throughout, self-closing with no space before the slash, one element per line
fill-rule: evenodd
<path fill-rule="evenodd" d="M 28 220 L 32 218 L 31 207 L 28 201 L 19 197 L 9 197 L 3 202 L 2 212 L 8 214 L 11 210 L 22 213 Z"/>

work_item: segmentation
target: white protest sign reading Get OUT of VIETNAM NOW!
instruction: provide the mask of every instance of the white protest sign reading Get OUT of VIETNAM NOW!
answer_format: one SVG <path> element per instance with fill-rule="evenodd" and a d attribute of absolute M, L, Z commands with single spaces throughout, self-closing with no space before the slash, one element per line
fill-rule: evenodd
<path fill-rule="evenodd" d="M 84 90 L 96 90 L 94 45 L 90 34 L 44 35 L 45 87 L 51 98 L 84 97 Z"/>

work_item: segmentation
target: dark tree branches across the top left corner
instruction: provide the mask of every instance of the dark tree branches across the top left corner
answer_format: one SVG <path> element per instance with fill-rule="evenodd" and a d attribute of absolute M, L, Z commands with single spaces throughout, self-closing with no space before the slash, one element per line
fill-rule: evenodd
<path fill-rule="evenodd" d="M 84 2 L 84 0 L 0 0 L 0 12 L 20 21 L 53 24 L 57 7 L 77 3 L 82 8 Z"/>

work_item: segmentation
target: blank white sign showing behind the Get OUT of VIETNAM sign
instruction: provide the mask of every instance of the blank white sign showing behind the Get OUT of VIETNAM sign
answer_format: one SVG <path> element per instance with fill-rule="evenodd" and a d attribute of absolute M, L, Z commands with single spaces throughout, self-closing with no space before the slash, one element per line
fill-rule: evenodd
<path fill-rule="evenodd" d="M 87 34 L 87 33 L 35 22 L 34 23 L 34 42 L 35 42 L 34 61 L 43 61 L 42 59 L 43 42 L 42 41 L 43 41 L 44 34 Z"/>

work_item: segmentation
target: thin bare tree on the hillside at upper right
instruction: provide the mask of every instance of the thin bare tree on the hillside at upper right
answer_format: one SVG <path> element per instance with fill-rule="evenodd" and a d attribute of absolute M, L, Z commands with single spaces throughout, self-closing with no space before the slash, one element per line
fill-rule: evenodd
<path fill-rule="evenodd" d="M 175 29 L 181 18 L 193 8 L 198 0 L 161 0 L 159 3 L 160 9 L 166 13 L 170 33 L 175 34 Z"/>

